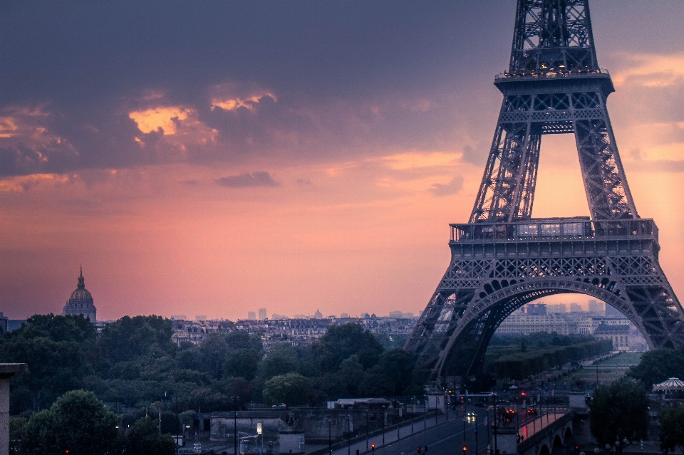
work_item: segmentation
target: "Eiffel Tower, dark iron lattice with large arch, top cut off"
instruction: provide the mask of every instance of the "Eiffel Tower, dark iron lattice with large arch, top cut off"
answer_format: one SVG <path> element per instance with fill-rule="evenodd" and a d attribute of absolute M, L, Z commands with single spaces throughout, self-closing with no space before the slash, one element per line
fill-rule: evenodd
<path fill-rule="evenodd" d="M 532 300 L 581 293 L 626 315 L 649 348 L 684 344 L 684 310 L 658 263 L 658 229 L 638 216 L 596 61 L 589 0 L 518 0 L 504 100 L 467 224 L 405 350 L 432 380 L 470 377 L 500 323 Z M 541 137 L 574 133 L 591 218 L 532 218 Z"/>

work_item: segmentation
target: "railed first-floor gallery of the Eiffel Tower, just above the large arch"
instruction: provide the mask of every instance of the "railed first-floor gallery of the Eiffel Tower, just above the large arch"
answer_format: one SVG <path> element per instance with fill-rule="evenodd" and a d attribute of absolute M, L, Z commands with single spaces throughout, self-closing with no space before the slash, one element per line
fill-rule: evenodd
<path fill-rule="evenodd" d="M 511 223 L 450 224 L 450 241 L 531 241 L 574 239 L 652 239 L 658 241 L 653 219 L 590 220 L 588 218 L 526 219 Z"/>

